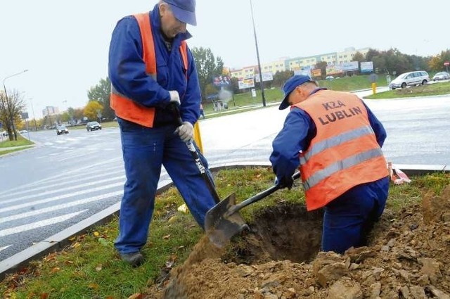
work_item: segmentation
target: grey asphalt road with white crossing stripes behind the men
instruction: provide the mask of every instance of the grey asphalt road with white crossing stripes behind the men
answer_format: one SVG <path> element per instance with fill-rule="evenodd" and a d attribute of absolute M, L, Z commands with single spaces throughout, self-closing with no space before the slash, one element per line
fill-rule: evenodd
<path fill-rule="evenodd" d="M 365 92 L 365 94 L 370 92 Z M 362 96 L 364 93 L 361 93 Z M 366 103 L 387 129 L 383 151 L 396 164 L 450 165 L 450 96 Z M 200 122 L 210 166 L 268 163 L 287 110 L 278 106 Z M 118 128 L 30 132 L 37 147 L 0 156 L 0 260 L 120 201 Z M 163 171 L 162 179 L 168 179 Z"/>

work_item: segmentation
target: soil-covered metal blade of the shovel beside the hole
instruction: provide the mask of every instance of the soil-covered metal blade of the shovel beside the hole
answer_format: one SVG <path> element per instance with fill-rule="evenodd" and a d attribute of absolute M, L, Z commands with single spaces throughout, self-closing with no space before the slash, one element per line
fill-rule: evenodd
<path fill-rule="evenodd" d="M 239 212 L 233 212 L 235 205 L 236 195 L 232 193 L 206 213 L 206 234 L 210 242 L 219 248 L 224 247 L 232 236 L 248 227 Z"/>

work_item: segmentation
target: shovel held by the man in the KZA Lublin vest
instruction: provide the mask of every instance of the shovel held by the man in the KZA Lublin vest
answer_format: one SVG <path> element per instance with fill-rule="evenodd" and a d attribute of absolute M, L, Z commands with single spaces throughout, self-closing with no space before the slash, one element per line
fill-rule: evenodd
<path fill-rule="evenodd" d="M 294 180 L 299 177 L 300 172 L 296 172 L 293 175 Z M 214 207 L 206 213 L 205 217 L 205 231 L 208 238 L 210 238 L 210 242 L 219 248 L 224 247 L 232 236 L 239 234 L 240 231 L 248 228 L 248 225 L 245 224 L 243 217 L 238 211 L 271 195 L 271 193 L 274 193 L 278 189 L 281 189 L 281 186 L 276 184 L 237 205 L 236 196 L 233 193 L 220 203 L 217 203 L 217 205 L 214 205 Z"/>

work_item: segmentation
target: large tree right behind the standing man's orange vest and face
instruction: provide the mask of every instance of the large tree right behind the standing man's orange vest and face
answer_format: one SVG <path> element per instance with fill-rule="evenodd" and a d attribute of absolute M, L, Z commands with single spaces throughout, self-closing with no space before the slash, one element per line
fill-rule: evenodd
<path fill-rule="evenodd" d="M 207 96 L 207 85 L 212 84 L 215 76 L 221 75 L 224 70 L 224 62 L 220 57 L 214 58 L 210 48 L 193 48 L 192 54 L 197 67 L 198 82 L 203 99 Z"/>

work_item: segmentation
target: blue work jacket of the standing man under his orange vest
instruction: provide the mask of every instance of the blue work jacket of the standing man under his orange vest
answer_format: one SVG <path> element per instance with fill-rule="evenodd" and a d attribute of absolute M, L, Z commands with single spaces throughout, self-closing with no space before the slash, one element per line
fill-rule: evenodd
<path fill-rule="evenodd" d="M 191 37 L 189 32 L 177 34 L 172 51 L 167 49 L 161 33 L 158 4 L 150 11 L 150 23 L 155 44 L 156 80 L 146 73 L 143 61 L 142 39 L 136 18 L 129 15 L 120 20 L 110 43 L 109 77 L 115 89 L 143 106 L 155 107 L 155 127 L 174 124 L 167 108 L 169 90 L 178 91 L 181 98 L 181 118 L 194 124 L 200 116 L 200 87 L 193 55 L 188 49 L 188 70 L 184 70 L 179 46 Z M 186 75 L 185 75 L 186 71 Z"/>

